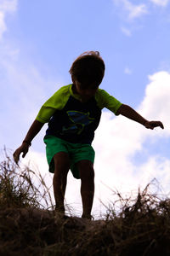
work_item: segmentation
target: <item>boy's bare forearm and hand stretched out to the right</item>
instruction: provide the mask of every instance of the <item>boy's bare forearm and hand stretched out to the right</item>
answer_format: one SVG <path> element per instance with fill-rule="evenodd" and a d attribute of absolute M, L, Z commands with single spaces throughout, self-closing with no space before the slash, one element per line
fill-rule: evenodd
<path fill-rule="evenodd" d="M 116 114 L 122 114 L 128 119 L 132 119 L 133 121 L 144 125 L 147 129 L 153 130 L 157 126 L 160 126 L 161 129 L 164 129 L 163 124 L 160 121 L 148 121 L 147 119 L 144 119 L 139 113 L 137 113 L 133 108 L 125 104 L 122 104 L 122 106 L 117 110 Z"/>

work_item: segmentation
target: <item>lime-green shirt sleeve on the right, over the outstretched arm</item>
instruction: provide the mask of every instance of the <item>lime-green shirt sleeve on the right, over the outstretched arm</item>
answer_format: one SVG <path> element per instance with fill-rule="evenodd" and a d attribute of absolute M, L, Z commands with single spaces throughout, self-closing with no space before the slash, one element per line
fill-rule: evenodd
<path fill-rule="evenodd" d="M 122 106 L 122 103 L 119 102 L 114 96 L 111 96 L 105 90 L 99 89 L 96 93 L 96 100 L 98 102 L 99 108 L 108 108 L 111 112 L 118 115 L 116 112 Z"/>

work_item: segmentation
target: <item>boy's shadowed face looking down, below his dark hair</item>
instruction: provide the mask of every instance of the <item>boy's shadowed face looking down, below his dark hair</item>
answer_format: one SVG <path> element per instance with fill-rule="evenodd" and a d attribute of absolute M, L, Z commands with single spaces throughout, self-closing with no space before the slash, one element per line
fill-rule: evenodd
<path fill-rule="evenodd" d="M 79 96 L 81 96 L 82 102 L 88 102 L 88 100 L 95 95 L 99 88 L 98 84 L 82 84 L 76 79 L 73 81 L 73 84 L 75 85 L 73 89 Z"/>

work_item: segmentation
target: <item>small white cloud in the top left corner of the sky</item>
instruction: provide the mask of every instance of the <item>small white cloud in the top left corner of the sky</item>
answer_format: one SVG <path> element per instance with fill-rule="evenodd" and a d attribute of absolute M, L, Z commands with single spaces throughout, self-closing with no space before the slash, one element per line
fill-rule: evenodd
<path fill-rule="evenodd" d="M 17 3 L 17 0 L 1 0 L 0 2 L 0 40 L 3 38 L 3 33 L 7 30 L 5 17 L 16 11 Z"/>

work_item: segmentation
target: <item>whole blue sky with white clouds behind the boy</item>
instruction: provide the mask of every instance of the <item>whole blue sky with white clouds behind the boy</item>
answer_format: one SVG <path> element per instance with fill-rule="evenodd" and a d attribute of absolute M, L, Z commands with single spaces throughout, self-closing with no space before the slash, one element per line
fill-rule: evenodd
<path fill-rule="evenodd" d="M 20 146 L 42 103 L 71 83 L 68 71 L 77 55 L 99 50 L 106 66 L 101 88 L 146 119 L 160 119 L 165 129 L 146 131 L 104 111 L 94 140 L 94 214 L 99 195 L 111 200 L 111 191 L 102 183 L 127 193 L 156 177 L 168 193 L 169 31 L 168 0 L 0 0 L 1 149 Z M 35 158 L 44 173 L 46 128 L 27 156 L 27 161 Z M 80 207 L 76 182 L 69 177 L 66 199 Z"/>

